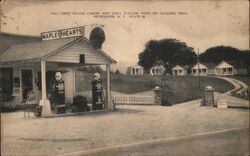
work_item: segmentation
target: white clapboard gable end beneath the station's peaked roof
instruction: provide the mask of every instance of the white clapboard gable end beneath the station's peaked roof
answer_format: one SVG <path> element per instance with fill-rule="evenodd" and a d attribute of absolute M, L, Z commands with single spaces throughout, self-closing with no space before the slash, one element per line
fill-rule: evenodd
<path fill-rule="evenodd" d="M 79 63 L 80 54 L 85 54 L 86 64 L 108 64 L 108 59 L 94 50 L 85 40 L 79 41 L 50 57 L 47 61 Z"/>

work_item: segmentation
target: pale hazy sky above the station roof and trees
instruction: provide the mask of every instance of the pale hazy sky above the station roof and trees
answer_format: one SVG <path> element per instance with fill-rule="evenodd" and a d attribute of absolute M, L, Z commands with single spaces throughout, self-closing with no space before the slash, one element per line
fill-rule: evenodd
<path fill-rule="evenodd" d="M 121 17 L 88 15 L 93 12 L 118 12 Z M 151 15 L 129 18 L 125 12 Z M 102 49 L 120 65 L 135 65 L 151 39 L 175 38 L 201 53 L 217 45 L 249 49 L 247 0 L 1 2 L 1 32 L 40 36 L 41 32 L 91 24 L 104 25 Z"/>

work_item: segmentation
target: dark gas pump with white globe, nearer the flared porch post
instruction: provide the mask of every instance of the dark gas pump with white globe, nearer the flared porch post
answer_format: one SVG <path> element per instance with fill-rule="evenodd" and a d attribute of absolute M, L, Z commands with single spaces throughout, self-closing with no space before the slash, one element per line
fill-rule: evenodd
<path fill-rule="evenodd" d="M 57 113 L 65 113 L 66 105 L 65 105 L 65 85 L 62 80 L 62 74 L 57 72 L 55 74 L 56 80 L 53 85 L 53 95 L 54 102 Z"/>

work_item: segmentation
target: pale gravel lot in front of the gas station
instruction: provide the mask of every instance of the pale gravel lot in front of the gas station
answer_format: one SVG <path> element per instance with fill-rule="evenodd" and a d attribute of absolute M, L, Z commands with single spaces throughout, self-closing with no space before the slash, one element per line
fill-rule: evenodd
<path fill-rule="evenodd" d="M 2 155 L 55 155 L 139 141 L 249 127 L 249 110 L 200 107 L 198 101 L 164 106 L 117 106 L 115 112 L 23 118 L 2 114 Z"/>

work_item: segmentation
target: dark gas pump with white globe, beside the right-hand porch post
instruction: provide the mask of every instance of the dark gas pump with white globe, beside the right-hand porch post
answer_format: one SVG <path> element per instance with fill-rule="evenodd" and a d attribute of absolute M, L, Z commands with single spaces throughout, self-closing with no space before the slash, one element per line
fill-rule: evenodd
<path fill-rule="evenodd" d="M 103 109 L 103 85 L 99 73 L 94 74 L 92 81 L 92 107 L 93 110 Z"/>

